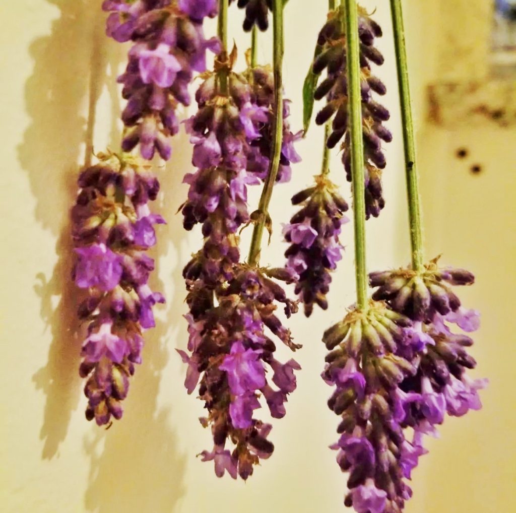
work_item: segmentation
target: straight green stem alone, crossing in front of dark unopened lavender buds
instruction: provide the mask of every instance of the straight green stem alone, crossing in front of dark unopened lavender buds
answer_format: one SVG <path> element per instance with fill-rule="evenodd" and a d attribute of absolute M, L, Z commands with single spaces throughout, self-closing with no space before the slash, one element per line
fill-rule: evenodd
<path fill-rule="evenodd" d="M 343 24 L 346 26 L 349 125 L 351 135 L 351 175 L 353 186 L 355 274 L 357 307 L 367 305 L 365 266 L 365 186 L 364 142 L 362 138 L 362 98 L 360 92 L 360 49 L 356 0 L 341 0 Z"/>

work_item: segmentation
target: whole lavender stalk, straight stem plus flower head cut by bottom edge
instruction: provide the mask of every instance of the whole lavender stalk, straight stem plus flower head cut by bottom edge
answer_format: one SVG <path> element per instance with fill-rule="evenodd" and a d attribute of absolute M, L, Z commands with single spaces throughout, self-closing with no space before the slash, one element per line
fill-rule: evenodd
<path fill-rule="evenodd" d="M 416 368 L 399 347 L 412 343 L 411 320 L 388 304 L 368 300 L 365 265 L 364 152 L 361 72 L 356 0 L 343 1 L 346 25 L 348 116 L 353 189 L 357 303 L 344 319 L 329 328 L 324 342 L 324 380 L 335 390 L 328 406 L 341 416 L 332 446 L 337 463 L 349 473 L 345 505 L 358 513 L 398 512 L 411 494 L 404 467 L 417 452 L 405 439 L 402 422 L 417 394 L 405 394 L 399 384 Z"/>

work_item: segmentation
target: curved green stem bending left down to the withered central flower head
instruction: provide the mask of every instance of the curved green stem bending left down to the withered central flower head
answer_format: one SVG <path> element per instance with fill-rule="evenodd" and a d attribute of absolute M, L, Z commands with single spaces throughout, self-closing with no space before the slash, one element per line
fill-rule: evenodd
<path fill-rule="evenodd" d="M 283 0 L 274 0 L 273 11 L 273 71 L 274 71 L 274 114 L 272 123 L 272 157 L 270 159 L 269 172 L 258 205 L 260 218 L 254 225 L 249 249 L 249 265 L 256 265 L 260 259 L 263 230 L 265 222 L 269 218 L 268 209 L 272 188 L 276 182 L 280 167 L 281 144 L 283 136 Z"/>

